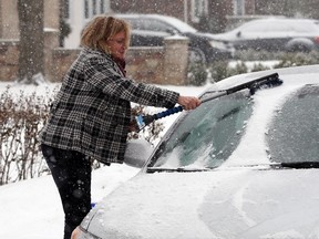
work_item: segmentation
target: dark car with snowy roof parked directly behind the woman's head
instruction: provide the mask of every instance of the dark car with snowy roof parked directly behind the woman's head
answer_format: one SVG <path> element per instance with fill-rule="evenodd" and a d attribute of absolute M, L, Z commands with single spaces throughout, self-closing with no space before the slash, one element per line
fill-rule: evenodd
<path fill-rule="evenodd" d="M 132 46 L 163 46 L 164 39 L 182 35 L 189 39 L 189 60 L 195 63 L 233 59 L 230 43 L 214 40 L 212 34 L 197 31 L 179 19 L 161 14 L 114 14 L 132 27 Z"/>

